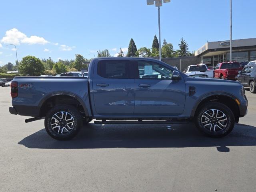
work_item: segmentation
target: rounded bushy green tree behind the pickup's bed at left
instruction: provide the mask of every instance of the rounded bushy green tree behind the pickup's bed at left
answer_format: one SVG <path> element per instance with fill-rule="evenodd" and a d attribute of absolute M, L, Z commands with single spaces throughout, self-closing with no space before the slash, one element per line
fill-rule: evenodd
<path fill-rule="evenodd" d="M 44 65 L 35 56 L 26 56 L 19 63 L 19 73 L 23 75 L 39 76 L 44 73 Z"/>

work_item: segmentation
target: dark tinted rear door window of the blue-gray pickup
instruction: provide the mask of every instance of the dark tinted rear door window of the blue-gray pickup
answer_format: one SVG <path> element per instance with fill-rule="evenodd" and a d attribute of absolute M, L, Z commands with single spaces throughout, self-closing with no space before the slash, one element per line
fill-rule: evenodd
<path fill-rule="evenodd" d="M 98 75 L 104 78 L 129 79 L 131 78 L 129 60 L 106 60 L 98 62 Z"/>

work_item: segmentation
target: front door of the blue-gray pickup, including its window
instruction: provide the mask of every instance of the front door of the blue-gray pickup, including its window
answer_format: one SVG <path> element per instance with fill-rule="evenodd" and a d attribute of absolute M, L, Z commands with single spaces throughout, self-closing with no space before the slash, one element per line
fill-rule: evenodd
<path fill-rule="evenodd" d="M 183 113 L 186 86 L 183 77 L 172 80 L 173 69 L 161 62 L 137 60 L 134 115 L 176 116 Z"/>

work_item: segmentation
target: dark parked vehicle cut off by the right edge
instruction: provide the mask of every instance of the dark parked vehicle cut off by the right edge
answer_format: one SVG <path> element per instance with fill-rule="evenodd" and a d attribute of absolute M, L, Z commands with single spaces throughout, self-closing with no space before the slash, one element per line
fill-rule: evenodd
<path fill-rule="evenodd" d="M 236 76 L 236 81 L 240 82 L 244 87 L 249 87 L 251 93 L 256 93 L 256 64 L 246 65 Z"/>

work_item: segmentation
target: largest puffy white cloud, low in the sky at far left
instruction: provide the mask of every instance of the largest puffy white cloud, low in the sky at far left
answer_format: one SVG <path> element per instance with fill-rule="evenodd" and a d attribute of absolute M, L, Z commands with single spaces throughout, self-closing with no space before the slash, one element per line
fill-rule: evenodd
<path fill-rule="evenodd" d="M 16 45 L 19 45 L 20 43 L 26 43 L 30 45 L 49 43 L 43 37 L 38 37 L 34 35 L 27 37 L 24 33 L 20 32 L 16 28 L 6 31 L 5 36 L 2 38 L 1 42 L 6 44 L 16 44 Z"/>

